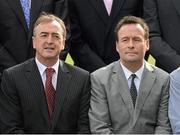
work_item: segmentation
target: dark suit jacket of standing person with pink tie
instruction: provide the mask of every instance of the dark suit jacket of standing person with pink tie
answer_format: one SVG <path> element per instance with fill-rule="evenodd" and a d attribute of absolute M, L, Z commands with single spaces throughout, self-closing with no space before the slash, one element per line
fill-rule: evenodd
<path fill-rule="evenodd" d="M 141 16 L 142 0 L 114 0 L 110 16 L 103 0 L 68 1 L 75 64 L 92 72 L 118 60 L 114 28 L 126 15 Z"/>

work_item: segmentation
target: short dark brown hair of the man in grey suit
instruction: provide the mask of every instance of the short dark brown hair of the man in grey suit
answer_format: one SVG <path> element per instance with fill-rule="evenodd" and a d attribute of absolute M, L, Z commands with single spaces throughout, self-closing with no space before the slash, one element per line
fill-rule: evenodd
<path fill-rule="evenodd" d="M 116 41 L 118 41 L 118 31 L 121 29 L 122 26 L 127 24 L 140 24 L 145 31 L 145 35 L 144 35 L 145 39 L 149 38 L 149 27 L 144 19 L 135 16 L 125 16 L 118 22 L 118 24 L 115 27 Z"/>

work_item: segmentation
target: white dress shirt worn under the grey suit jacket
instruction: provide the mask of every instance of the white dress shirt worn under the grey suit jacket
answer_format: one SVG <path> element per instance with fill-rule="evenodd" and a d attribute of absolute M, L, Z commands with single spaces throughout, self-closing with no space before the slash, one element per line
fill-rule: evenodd
<path fill-rule="evenodd" d="M 141 66 L 141 68 L 139 70 L 137 70 L 135 73 L 132 73 L 130 70 L 128 70 L 121 62 L 120 62 L 120 64 L 121 64 L 121 67 L 122 67 L 122 69 L 124 71 L 125 77 L 127 79 L 129 89 L 130 89 L 131 80 L 132 80 L 132 76 L 131 75 L 132 74 L 136 75 L 136 78 L 134 79 L 134 83 L 136 85 L 137 93 L 139 93 L 139 86 L 140 86 L 142 74 L 143 74 L 143 71 L 144 71 L 144 63 Z"/>

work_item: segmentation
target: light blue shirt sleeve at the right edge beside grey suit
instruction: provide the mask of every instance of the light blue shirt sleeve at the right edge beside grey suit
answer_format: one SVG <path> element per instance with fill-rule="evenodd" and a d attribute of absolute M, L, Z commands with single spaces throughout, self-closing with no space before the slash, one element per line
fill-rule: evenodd
<path fill-rule="evenodd" d="M 169 118 L 173 134 L 180 134 L 180 68 L 170 74 Z"/>

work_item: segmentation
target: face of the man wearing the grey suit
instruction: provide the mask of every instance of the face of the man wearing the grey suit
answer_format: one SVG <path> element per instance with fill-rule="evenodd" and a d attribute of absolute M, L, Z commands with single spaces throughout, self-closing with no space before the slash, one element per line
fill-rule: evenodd
<path fill-rule="evenodd" d="M 149 40 L 144 35 L 145 31 L 139 24 L 126 24 L 120 28 L 116 50 L 123 64 L 143 63 L 145 53 L 149 50 Z"/>

